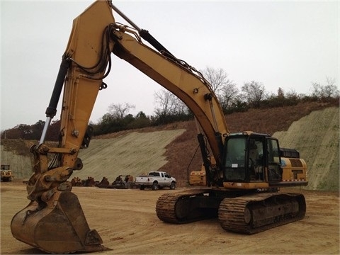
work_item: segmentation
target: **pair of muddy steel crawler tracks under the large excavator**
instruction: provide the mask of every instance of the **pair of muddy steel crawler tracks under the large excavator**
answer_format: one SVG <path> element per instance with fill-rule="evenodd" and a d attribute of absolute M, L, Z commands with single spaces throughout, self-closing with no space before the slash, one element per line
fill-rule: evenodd
<path fill-rule="evenodd" d="M 223 229 L 254 234 L 305 217 L 302 194 L 251 193 L 233 197 L 232 191 L 211 189 L 168 193 L 157 200 L 156 212 L 164 222 L 182 224 L 217 217 Z"/>

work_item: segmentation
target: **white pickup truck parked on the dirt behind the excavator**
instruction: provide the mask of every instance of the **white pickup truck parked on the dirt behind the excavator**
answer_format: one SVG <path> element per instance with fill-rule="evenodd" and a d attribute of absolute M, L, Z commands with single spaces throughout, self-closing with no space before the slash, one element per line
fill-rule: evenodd
<path fill-rule="evenodd" d="M 135 184 L 141 190 L 144 190 L 145 188 L 152 188 L 152 190 L 156 191 L 163 187 L 175 189 L 176 179 L 164 171 L 150 171 L 146 176 L 136 177 Z"/>

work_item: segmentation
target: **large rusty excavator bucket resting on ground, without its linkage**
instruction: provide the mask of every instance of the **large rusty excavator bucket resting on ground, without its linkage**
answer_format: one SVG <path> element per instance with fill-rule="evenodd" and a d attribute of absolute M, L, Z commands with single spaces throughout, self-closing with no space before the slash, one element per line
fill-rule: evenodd
<path fill-rule="evenodd" d="M 14 215 L 13 237 L 42 251 L 67 254 L 75 251 L 103 251 L 95 229 L 89 229 L 77 196 L 56 191 L 47 203 L 31 201 Z"/>

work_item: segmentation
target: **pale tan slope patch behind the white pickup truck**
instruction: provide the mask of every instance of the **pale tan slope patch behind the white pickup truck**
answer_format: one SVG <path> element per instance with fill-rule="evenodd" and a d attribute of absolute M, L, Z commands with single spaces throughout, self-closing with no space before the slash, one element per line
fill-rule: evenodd
<path fill-rule="evenodd" d="M 74 176 L 80 179 L 92 176 L 98 181 L 105 176 L 112 182 L 120 174 L 138 176 L 156 171 L 166 163 L 166 145 L 184 131 L 130 132 L 115 138 L 94 139 L 88 149 L 79 153 L 84 168 L 75 171 Z"/>

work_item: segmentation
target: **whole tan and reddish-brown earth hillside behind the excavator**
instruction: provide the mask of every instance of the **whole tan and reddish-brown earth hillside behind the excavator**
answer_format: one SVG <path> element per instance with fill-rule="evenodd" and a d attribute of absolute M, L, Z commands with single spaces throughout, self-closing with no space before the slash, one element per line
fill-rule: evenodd
<path fill-rule="evenodd" d="M 309 168 L 308 189 L 339 191 L 339 107 L 305 103 L 232 113 L 226 119 L 230 132 L 267 132 L 278 137 L 281 147 L 298 149 Z M 11 164 L 18 179 L 31 175 L 31 143 L 1 140 L 1 164 Z M 178 186 L 186 186 L 188 172 L 200 169 L 200 152 L 196 149 L 193 121 L 95 137 L 79 154 L 84 169 L 74 171 L 72 178 L 92 176 L 101 181 L 106 176 L 112 182 L 120 174 L 137 176 L 159 169 L 175 176 Z"/>

